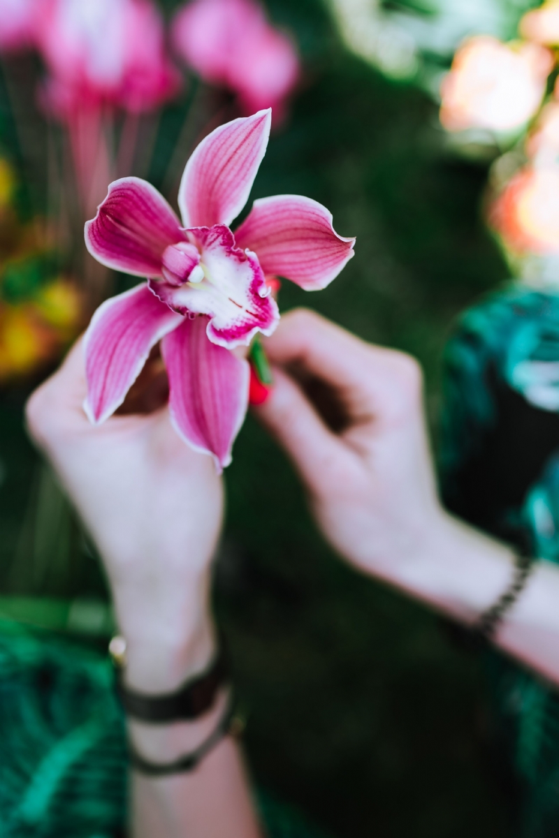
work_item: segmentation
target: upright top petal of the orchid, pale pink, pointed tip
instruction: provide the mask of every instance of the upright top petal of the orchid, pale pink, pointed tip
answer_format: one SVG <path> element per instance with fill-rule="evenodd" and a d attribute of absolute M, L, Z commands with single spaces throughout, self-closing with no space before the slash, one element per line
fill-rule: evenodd
<path fill-rule="evenodd" d="M 179 189 L 185 227 L 230 225 L 236 219 L 266 153 L 271 121 L 270 109 L 234 119 L 194 149 Z"/>

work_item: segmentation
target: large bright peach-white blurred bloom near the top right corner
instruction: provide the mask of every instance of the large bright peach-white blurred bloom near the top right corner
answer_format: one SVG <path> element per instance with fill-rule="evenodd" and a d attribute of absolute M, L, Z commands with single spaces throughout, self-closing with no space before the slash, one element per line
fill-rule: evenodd
<path fill-rule="evenodd" d="M 540 106 L 552 66 L 550 51 L 537 44 L 501 44 L 490 35 L 467 39 L 441 85 L 443 126 L 521 127 Z"/>

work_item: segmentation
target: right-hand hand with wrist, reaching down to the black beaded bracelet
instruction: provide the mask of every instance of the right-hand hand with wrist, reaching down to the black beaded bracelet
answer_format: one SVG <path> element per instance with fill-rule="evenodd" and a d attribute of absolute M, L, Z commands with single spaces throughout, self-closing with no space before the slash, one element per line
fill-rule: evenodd
<path fill-rule="evenodd" d="M 417 361 L 303 309 L 282 318 L 266 349 L 275 385 L 256 413 L 298 468 L 331 545 L 361 570 L 475 619 L 506 584 L 510 551 L 439 503 Z"/>

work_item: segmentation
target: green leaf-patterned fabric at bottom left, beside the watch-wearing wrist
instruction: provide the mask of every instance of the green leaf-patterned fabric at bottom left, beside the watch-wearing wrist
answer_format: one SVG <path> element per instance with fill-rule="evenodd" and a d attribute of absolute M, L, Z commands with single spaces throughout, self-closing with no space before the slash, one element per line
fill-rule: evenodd
<path fill-rule="evenodd" d="M 124 723 L 103 646 L 0 620 L 2 838 L 125 834 Z M 270 838 L 321 838 L 270 795 L 259 804 Z"/>

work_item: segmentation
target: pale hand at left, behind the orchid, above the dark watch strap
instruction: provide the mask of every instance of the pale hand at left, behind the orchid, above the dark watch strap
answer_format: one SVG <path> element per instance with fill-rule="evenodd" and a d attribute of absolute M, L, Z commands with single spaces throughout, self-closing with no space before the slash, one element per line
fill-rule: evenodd
<path fill-rule="evenodd" d="M 203 669 L 214 649 L 210 562 L 221 481 L 211 458 L 173 430 L 167 406 L 92 427 L 85 392 L 78 342 L 29 399 L 29 432 L 101 553 L 127 639 L 128 682 L 168 691 Z"/>

